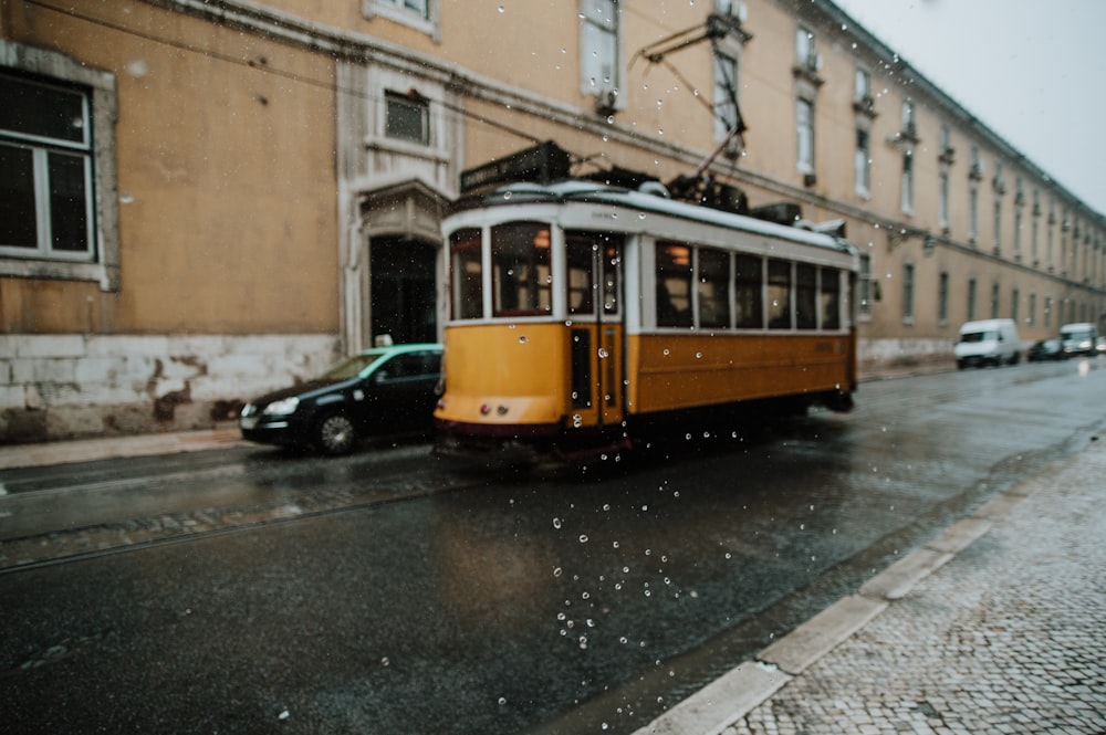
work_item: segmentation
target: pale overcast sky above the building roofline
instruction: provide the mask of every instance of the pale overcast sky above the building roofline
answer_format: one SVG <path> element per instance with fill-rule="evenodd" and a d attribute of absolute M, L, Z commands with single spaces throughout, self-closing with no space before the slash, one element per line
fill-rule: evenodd
<path fill-rule="evenodd" d="M 1106 0 L 834 2 L 1106 214 Z"/>

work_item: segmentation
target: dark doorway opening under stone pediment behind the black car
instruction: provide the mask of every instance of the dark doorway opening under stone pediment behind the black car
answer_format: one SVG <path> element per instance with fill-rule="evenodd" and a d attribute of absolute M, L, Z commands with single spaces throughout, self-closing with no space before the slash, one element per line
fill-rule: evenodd
<path fill-rule="evenodd" d="M 396 344 L 437 339 L 436 262 L 431 244 L 404 238 L 369 242 L 374 339 L 385 335 Z"/>

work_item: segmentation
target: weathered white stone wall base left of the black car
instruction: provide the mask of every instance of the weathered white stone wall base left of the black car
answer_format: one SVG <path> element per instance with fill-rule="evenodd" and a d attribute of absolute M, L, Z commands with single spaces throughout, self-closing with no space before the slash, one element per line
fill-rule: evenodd
<path fill-rule="evenodd" d="M 341 357 L 335 335 L 0 335 L 0 443 L 210 429 Z"/>

